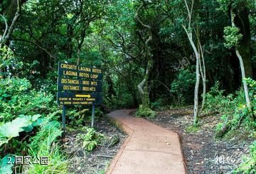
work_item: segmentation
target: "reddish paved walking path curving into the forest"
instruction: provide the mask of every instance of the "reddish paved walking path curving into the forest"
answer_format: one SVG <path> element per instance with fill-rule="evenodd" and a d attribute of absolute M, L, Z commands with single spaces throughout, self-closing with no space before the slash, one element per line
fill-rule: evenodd
<path fill-rule="evenodd" d="M 128 134 L 128 138 L 107 173 L 186 173 L 178 134 L 130 116 L 132 111 L 117 110 L 109 114 Z"/>

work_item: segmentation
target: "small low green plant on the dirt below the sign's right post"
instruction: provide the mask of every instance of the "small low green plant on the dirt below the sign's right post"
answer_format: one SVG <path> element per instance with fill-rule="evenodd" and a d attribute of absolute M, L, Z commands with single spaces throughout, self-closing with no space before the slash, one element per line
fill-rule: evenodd
<path fill-rule="evenodd" d="M 85 127 L 86 134 L 78 134 L 78 141 L 82 141 L 85 151 L 92 151 L 102 141 L 103 134 L 97 133 L 93 128 Z"/>

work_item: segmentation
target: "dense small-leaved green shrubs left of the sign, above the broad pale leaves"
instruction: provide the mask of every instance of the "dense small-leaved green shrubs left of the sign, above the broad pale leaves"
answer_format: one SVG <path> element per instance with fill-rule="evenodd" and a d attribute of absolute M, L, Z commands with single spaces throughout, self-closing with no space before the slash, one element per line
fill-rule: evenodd
<path fill-rule="evenodd" d="M 53 95 L 31 89 L 26 79 L 0 80 L 0 122 L 15 119 L 18 115 L 36 115 L 52 112 Z"/>

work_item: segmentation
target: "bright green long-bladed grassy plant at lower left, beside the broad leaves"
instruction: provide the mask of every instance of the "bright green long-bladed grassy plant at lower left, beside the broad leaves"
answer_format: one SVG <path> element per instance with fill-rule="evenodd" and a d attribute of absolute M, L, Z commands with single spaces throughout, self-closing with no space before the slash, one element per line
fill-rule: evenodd
<path fill-rule="evenodd" d="M 49 164 L 26 165 L 24 173 L 68 173 L 68 160 L 56 143 L 62 132 L 58 121 L 43 121 L 41 129 L 30 139 L 28 147 L 31 156 L 48 156 Z"/>

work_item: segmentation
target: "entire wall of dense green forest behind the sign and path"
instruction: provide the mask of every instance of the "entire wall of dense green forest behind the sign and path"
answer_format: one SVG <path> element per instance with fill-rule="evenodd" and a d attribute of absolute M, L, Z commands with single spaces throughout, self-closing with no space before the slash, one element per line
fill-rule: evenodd
<path fill-rule="evenodd" d="M 20 114 L 60 114 L 57 67 L 66 61 L 102 69 L 102 108 L 141 105 L 142 115 L 194 104 L 196 95 L 207 111 L 215 95 L 239 96 L 244 106 L 248 88 L 255 126 L 255 0 L 3 0 L 0 15 L 0 125 Z"/>

